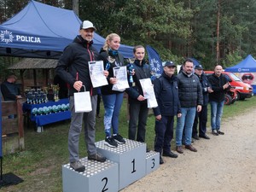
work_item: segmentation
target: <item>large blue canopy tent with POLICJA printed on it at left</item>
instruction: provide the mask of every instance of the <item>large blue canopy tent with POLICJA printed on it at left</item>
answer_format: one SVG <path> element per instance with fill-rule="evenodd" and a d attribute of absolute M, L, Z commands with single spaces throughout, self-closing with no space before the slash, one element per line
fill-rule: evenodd
<path fill-rule="evenodd" d="M 0 55 L 58 59 L 67 44 L 79 34 L 81 22 L 73 10 L 32 0 L 17 15 L 0 25 Z M 105 38 L 95 33 L 93 41 L 100 50 Z M 119 52 L 131 58 L 132 49 L 122 44 Z"/>

